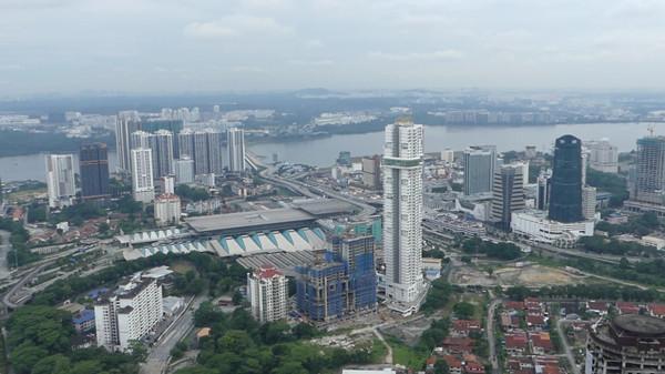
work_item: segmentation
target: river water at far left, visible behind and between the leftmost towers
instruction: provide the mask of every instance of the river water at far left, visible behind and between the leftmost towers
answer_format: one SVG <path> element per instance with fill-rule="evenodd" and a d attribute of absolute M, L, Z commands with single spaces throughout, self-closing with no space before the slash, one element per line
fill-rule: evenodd
<path fill-rule="evenodd" d="M 0 158 L 0 178 L 2 181 L 24 181 L 35 180 L 45 182 L 47 164 L 44 156 L 47 153 L 34 153 L 27 155 L 17 155 L 10 158 Z M 79 170 L 79 154 L 74 153 L 75 172 Z M 109 170 L 115 170 L 117 165 L 117 155 L 115 152 L 109 152 Z"/>

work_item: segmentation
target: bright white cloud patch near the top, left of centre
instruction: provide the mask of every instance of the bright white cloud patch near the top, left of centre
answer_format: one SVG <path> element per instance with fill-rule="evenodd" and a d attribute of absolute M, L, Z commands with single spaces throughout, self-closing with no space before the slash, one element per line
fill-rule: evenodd
<path fill-rule="evenodd" d="M 224 39 L 242 36 L 274 37 L 293 32 L 293 28 L 280 24 L 273 18 L 245 14 L 228 16 L 208 22 L 192 22 L 183 30 L 186 37 L 198 39 Z"/>

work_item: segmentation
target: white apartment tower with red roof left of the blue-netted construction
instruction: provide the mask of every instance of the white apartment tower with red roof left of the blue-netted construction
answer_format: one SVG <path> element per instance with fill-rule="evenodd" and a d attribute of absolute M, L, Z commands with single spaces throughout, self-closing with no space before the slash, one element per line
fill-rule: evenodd
<path fill-rule="evenodd" d="M 275 266 L 264 265 L 247 274 L 252 315 L 260 323 L 280 321 L 288 313 L 288 280 Z"/>

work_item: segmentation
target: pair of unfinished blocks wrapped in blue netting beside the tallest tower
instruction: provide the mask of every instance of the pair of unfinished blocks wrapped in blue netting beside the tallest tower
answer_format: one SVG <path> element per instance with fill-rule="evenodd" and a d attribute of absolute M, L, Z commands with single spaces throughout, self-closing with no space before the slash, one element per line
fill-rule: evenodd
<path fill-rule="evenodd" d="M 313 264 L 296 267 L 296 302 L 310 321 L 328 322 L 377 305 L 371 236 L 339 239 L 338 251 L 316 253 Z"/>

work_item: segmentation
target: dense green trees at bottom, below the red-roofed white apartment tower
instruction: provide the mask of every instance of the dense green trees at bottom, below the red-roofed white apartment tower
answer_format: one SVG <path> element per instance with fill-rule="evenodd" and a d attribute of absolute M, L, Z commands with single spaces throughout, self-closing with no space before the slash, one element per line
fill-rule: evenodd
<path fill-rule="evenodd" d="M 321 348 L 303 341 L 317 335 L 316 328 L 303 324 L 291 328 L 285 322 L 259 325 L 243 309 L 225 314 L 204 303 L 195 323 L 209 326 L 211 336 L 201 342 L 198 365 L 177 374 L 315 374 L 372 362 L 371 345 Z"/>

